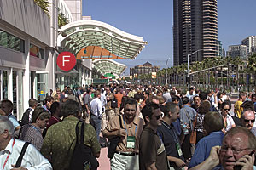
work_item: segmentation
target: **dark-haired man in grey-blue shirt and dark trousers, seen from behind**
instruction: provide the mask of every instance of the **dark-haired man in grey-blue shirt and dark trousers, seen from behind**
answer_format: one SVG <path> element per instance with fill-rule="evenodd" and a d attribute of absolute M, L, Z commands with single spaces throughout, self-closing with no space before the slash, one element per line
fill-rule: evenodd
<path fill-rule="evenodd" d="M 189 106 L 188 97 L 183 98 L 183 105 L 183 108 L 179 112 L 180 119 L 183 121 L 183 123 L 189 125 L 191 130 L 193 130 L 193 122 L 195 121 L 196 111 Z M 191 131 L 188 134 L 185 134 L 185 139 L 182 144 L 182 150 L 186 160 L 191 158 L 191 144 L 189 141 L 190 133 Z"/>

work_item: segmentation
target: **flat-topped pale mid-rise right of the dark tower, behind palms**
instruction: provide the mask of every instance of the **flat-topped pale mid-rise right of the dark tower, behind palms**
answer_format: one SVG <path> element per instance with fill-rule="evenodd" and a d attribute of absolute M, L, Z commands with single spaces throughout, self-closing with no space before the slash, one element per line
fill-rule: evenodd
<path fill-rule="evenodd" d="M 247 59 L 247 46 L 246 45 L 230 45 L 229 51 L 227 51 L 227 57 L 240 57 L 241 59 Z"/>

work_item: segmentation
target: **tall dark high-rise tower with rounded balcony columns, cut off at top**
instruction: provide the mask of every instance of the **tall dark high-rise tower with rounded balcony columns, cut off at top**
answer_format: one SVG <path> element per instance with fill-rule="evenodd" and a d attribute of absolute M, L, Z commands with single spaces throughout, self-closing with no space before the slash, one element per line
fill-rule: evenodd
<path fill-rule="evenodd" d="M 217 0 L 173 0 L 173 64 L 187 63 L 188 55 L 194 62 L 217 54 Z"/>

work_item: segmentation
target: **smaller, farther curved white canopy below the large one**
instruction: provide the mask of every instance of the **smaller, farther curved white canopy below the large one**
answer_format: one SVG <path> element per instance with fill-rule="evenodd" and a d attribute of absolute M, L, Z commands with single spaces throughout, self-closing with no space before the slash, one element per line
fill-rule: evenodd
<path fill-rule="evenodd" d="M 115 77 L 119 77 L 126 69 L 126 65 L 120 64 L 112 59 L 95 59 L 92 62 L 92 68 L 95 68 L 102 75 L 112 73 Z"/>

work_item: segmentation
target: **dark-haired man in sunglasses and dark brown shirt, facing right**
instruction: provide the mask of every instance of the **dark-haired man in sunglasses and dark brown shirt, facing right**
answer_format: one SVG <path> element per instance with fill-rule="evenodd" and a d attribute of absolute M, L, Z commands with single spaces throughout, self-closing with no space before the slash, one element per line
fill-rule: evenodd
<path fill-rule="evenodd" d="M 143 107 L 142 113 L 146 126 L 139 143 L 139 169 L 167 170 L 169 167 L 165 146 L 156 133 L 157 127 L 161 125 L 162 121 L 160 107 L 150 102 Z"/>

